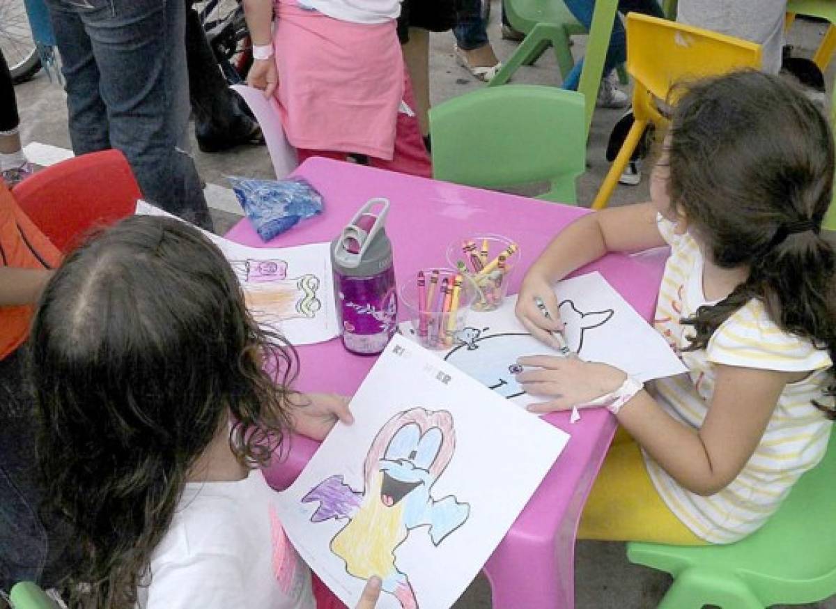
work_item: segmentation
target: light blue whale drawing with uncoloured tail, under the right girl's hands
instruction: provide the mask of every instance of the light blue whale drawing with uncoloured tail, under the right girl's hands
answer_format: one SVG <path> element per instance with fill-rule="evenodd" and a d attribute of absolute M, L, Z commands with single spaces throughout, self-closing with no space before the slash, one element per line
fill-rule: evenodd
<path fill-rule="evenodd" d="M 569 348 L 575 353 L 581 353 L 584 349 L 584 335 L 607 323 L 613 315 L 611 309 L 584 313 L 571 300 L 563 300 L 560 303 L 560 318 L 566 325 Z M 492 335 L 489 330 L 460 330 L 456 333 L 460 345 L 447 353 L 444 359 L 502 397 L 510 399 L 522 396 L 525 391 L 516 376 L 523 371 L 523 366 L 517 364 L 517 358 L 554 353 L 548 352 L 543 343 L 526 332 Z"/>

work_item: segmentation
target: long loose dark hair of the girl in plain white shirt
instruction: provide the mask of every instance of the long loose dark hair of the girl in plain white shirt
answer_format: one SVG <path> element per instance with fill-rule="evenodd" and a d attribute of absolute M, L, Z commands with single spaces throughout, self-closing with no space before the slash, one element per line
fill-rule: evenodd
<path fill-rule="evenodd" d="M 219 430 L 232 422 L 247 467 L 279 448 L 297 356 L 252 320 L 211 241 L 150 216 L 69 254 L 29 342 L 38 459 L 83 552 L 64 582 L 72 605 L 133 609 L 190 468 Z"/>

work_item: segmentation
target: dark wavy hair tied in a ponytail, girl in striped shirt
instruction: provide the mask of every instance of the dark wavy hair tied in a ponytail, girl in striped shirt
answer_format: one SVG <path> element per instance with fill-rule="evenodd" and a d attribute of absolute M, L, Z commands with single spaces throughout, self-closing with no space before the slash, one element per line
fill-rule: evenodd
<path fill-rule="evenodd" d="M 759 299 L 836 361 L 836 255 L 820 233 L 833 194 L 827 120 L 798 86 L 755 70 L 685 87 L 669 132 L 671 205 L 715 264 L 749 269 L 725 299 L 682 320 L 696 330 L 691 349 Z"/>

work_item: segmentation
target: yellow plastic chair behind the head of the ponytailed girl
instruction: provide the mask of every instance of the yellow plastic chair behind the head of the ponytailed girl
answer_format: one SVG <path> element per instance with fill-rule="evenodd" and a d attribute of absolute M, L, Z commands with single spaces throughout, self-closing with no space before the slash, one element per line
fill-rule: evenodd
<path fill-rule="evenodd" d="M 593 209 L 607 206 L 645 127 L 667 124 L 655 100 L 675 102 L 670 90 L 683 81 L 760 66 L 760 44 L 639 13 L 627 15 L 627 72 L 635 81 L 635 122 L 604 178 Z"/>

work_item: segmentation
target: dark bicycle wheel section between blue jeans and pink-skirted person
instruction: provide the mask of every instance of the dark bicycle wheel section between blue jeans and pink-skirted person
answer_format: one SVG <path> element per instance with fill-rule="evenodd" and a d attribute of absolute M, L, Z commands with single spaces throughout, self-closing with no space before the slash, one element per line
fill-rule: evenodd
<path fill-rule="evenodd" d="M 195 8 L 227 82 L 242 82 L 252 65 L 252 42 L 241 3 L 237 0 L 205 0 L 196 2 Z"/>

